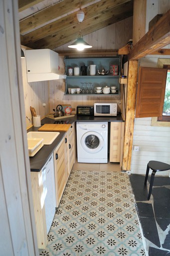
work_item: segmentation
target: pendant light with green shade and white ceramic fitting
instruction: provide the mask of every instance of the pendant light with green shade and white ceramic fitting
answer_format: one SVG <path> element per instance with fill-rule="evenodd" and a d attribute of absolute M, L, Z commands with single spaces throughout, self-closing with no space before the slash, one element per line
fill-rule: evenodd
<path fill-rule="evenodd" d="M 84 19 L 84 11 L 81 9 L 81 4 L 80 4 L 80 10 L 77 11 L 77 19 L 80 22 L 83 21 Z M 75 42 L 73 42 L 72 44 L 70 44 L 68 46 L 69 48 L 75 48 L 77 50 L 84 50 L 85 48 L 91 48 L 92 46 L 90 44 L 88 44 L 84 39 L 83 39 L 83 35 L 81 33 L 81 28 L 79 31 L 79 35 L 78 38 Z"/>

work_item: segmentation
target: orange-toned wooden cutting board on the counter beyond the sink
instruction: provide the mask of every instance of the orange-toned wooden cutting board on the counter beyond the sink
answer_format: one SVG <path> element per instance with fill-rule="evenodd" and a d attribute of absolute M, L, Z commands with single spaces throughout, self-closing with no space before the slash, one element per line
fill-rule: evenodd
<path fill-rule="evenodd" d="M 46 123 L 42 125 L 38 131 L 67 131 L 71 127 L 71 124 L 53 124 Z"/>

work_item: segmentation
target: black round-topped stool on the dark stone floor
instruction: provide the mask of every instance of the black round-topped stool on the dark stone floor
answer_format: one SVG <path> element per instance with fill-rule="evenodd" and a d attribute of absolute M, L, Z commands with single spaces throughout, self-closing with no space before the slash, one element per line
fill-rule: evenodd
<path fill-rule="evenodd" d="M 159 162 L 159 161 L 149 161 L 148 165 L 147 165 L 146 176 L 145 176 L 145 185 L 147 184 L 148 174 L 149 174 L 150 168 L 153 170 L 153 172 L 151 174 L 148 200 L 151 197 L 151 192 L 152 192 L 152 187 L 153 187 L 153 184 L 154 184 L 155 173 L 157 171 L 170 170 L 170 164 L 165 163 L 165 162 Z"/>

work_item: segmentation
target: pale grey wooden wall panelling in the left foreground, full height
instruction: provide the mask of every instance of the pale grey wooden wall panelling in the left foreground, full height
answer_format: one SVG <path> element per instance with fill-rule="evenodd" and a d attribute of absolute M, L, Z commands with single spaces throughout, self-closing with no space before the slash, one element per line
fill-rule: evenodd
<path fill-rule="evenodd" d="M 0 1 L 0 27 L 0 254 L 38 255 L 16 2 Z"/>

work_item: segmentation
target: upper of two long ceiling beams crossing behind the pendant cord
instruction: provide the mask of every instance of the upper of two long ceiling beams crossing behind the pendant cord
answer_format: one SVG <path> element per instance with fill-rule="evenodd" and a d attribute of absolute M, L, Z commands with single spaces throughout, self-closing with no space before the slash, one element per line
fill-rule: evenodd
<path fill-rule="evenodd" d="M 96 12 L 105 11 L 109 8 L 113 8 L 114 6 L 121 5 L 125 2 L 129 2 L 132 0 L 101 0 L 95 4 L 91 4 L 86 8 L 82 8 L 85 12 L 85 18 L 87 15 L 94 15 Z M 91 0 L 82 0 L 81 6 L 91 3 Z M 79 0 L 72 0 L 70 4 L 70 0 L 63 0 L 61 2 L 55 3 L 54 5 L 45 8 L 19 22 L 20 33 L 23 34 L 27 31 L 35 29 L 37 26 L 42 26 L 44 23 L 48 23 L 50 20 L 59 18 L 62 15 L 66 15 L 69 12 L 73 12 L 75 9 L 79 8 Z M 76 15 L 75 15 L 76 16 Z M 64 18 L 61 18 L 64 23 Z"/>

